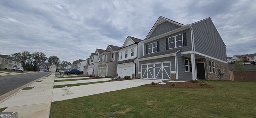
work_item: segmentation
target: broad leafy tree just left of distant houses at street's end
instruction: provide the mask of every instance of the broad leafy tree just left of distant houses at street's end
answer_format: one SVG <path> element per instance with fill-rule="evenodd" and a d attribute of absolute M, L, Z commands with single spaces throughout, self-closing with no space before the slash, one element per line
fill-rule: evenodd
<path fill-rule="evenodd" d="M 46 54 L 43 53 L 43 52 L 34 52 L 34 53 L 32 53 L 32 57 L 34 59 L 33 65 L 36 68 L 34 70 L 38 70 L 39 69 L 39 65 L 41 65 L 41 63 L 45 63 L 45 61 L 47 61 L 47 59 L 48 59 L 46 57 Z"/>

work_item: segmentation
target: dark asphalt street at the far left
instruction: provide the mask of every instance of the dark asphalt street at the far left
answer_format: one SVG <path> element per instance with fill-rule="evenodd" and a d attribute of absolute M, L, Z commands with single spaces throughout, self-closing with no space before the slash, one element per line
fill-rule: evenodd
<path fill-rule="evenodd" d="M 17 89 L 27 83 L 30 83 L 40 77 L 46 76 L 48 72 L 37 72 L 28 73 L 12 76 L 1 76 L 0 77 L 0 96 L 7 92 Z"/>

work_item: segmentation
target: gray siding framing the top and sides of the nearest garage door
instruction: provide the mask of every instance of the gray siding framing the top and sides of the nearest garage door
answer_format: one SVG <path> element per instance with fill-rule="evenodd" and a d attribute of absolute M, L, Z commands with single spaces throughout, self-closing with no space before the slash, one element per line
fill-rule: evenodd
<path fill-rule="evenodd" d="M 158 63 L 158 62 L 163 62 L 163 61 L 171 61 L 171 71 L 175 71 L 175 57 L 164 57 L 160 59 L 150 59 L 150 60 L 145 60 L 145 61 L 139 61 L 139 69 L 138 72 L 141 72 L 141 65 L 142 64 L 147 64 L 147 63 Z"/>

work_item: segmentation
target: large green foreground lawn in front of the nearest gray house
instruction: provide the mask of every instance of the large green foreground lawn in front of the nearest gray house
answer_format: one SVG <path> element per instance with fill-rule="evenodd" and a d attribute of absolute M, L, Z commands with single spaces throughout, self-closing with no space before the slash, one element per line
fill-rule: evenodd
<path fill-rule="evenodd" d="M 207 81 L 214 89 L 135 87 L 51 105 L 51 118 L 256 118 L 256 83 Z M 61 110 L 60 110 L 61 109 Z M 114 114 L 109 112 L 115 111 Z"/>

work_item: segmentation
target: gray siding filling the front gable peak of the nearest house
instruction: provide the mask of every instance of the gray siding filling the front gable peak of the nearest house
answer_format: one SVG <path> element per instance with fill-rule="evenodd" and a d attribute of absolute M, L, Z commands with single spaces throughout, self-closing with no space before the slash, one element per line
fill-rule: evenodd
<path fill-rule="evenodd" d="M 150 37 L 148 39 L 156 37 L 163 33 L 167 33 L 169 31 L 173 31 L 178 28 L 180 28 L 180 26 L 173 24 L 171 22 L 165 21 L 165 22 L 159 24 L 158 26 L 156 26 L 155 30 L 152 32 L 152 34 L 150 35 Z"/>

